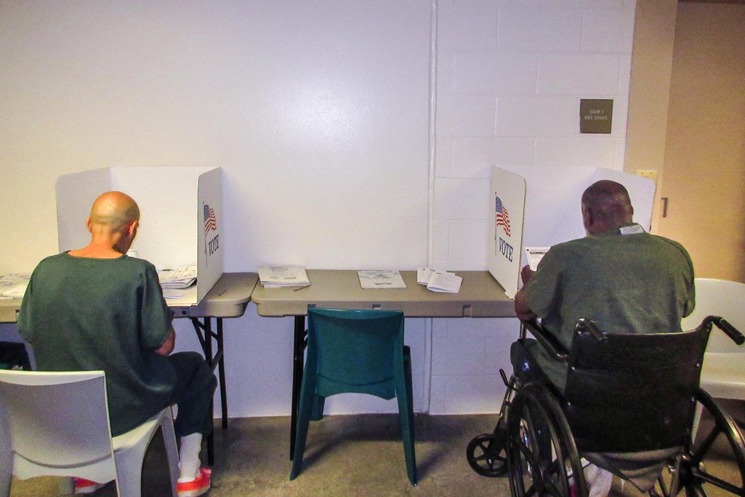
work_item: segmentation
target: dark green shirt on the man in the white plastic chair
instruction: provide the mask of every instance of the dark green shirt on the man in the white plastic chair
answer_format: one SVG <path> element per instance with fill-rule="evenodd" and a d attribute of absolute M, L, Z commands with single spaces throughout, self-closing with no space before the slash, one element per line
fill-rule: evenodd
<path fill-rule="evenodd" d="M 150 262 L 60 253 L 31 275 L 18 319 L 45 371 L 104 370 L 112 434 L 168 405 L 174 368 L 154 352 L 171 330 L 171 313 Z"/>

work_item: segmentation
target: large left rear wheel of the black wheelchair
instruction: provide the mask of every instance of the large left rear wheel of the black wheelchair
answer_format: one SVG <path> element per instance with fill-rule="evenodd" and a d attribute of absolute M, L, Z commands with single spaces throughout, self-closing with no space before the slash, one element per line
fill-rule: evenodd
<path fill-rule="evenodd" d="M 529 383 L 516 394 L 507 417 L 507 468 L 513 497 L 587 497 L 577 446 L 559 402 L 546 387 Z"/>

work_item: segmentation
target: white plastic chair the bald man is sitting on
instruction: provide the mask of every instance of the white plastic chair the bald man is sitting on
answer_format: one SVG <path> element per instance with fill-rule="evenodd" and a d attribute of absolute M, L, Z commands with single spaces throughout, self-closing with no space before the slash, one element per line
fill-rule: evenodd
<path fill-rule="evenodd" d="M 179 469 L 171 408 L 112 437 L 104 379 L 103 371 L 0 370 L 0 407 L 7 418 L 13 475 L 115 480 L 118 496 L 139 497 L 142 460 L 161 426 L 175 497 Z M 0 492 L 8 496 L 10 482 L 0 481 Z"/>

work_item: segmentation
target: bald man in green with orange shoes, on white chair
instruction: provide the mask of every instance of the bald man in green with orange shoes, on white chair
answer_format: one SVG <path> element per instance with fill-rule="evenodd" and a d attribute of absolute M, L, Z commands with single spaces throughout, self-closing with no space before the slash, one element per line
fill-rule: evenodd
<path fill-rule="evenodd" d="M 139 207 L 108 191 L 91 208 L 91 242 L 47 257 L 34 270 L 18 319 L 40 370 L 104 370 L 112 435 L 135 428 L 171 404 L 180 437 L 179 497 L 209 490 L 200 469 L 202 437 L 217 380 L 197 352 L 174 349 L 171 311 L 150 262 L 125 255 L 139 227 Z M 75 479 L 75 493 L 106 482 Z"/>

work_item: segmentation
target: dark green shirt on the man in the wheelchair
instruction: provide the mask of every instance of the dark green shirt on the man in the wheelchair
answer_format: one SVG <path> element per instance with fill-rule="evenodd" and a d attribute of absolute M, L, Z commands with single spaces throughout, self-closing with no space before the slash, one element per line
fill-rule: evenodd
<path fill-rule="evenodd" d="M 693 263 L 681 244 L 629 224 L 551 247 L 524 296 L 567 348 L 581 317 L 605 332 L 679 332 L 682 317 L 694 310 Z M 529 348 L 563 390 L 565 365 L 534 342 Z"/>

